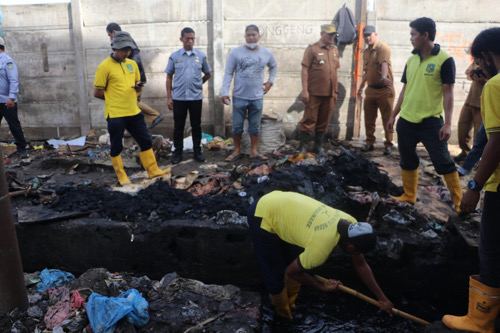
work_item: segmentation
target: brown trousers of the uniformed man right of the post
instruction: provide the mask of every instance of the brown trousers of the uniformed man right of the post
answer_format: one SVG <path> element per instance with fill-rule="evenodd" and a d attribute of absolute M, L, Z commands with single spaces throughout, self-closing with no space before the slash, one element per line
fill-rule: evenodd
<path fill-rule="evenodd" d="M 387 122 L 391 117 L 393 104 L 394 90 L 386 88 L 366 88 L 363 109 L 365 111 L 365 132 L 367 145 L 371 146 L 375 143 L 375 122 L 377 121 L 377 110 L 379 109 L 380 115 L 382 116 L 382 124 L 384 125 L 384 146 L 392 147 L 393 134 L 387 131 L 386 127 Z"/>

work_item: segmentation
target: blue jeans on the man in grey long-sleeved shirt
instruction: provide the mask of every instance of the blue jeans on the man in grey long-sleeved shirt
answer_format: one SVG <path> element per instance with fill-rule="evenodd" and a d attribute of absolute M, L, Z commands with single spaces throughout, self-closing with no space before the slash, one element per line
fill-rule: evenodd
<path fill-rule="evenodd" d="M 248 133 L 259 135 L 264 99 L 243 99 L 233 97 L 233 135 L 243 134 L 243 123 L 248 111 Z"/>

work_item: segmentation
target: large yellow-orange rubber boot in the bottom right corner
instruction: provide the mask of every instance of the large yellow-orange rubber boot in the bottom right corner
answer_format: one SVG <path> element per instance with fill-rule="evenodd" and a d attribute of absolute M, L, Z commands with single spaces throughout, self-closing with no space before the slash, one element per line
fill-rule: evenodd
<path fill-rule="evenodd" d="M 454 330 L 495 332 L 495 319 L 500 312 L 500 288 L 490 288 L 469 278 L 469 312 L 463 317 L 445 315 L 443 323 Z"/>

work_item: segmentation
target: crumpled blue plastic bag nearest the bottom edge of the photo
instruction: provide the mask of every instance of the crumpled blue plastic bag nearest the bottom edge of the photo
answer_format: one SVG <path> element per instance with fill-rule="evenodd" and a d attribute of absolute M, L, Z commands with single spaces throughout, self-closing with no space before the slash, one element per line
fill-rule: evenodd
<path fill-rule="evenodd" d="M 116 323 L 125 317 L 137 327 L 149 321 L 148 301 L 136 289 L 129 289 L 118 297 L 93 293 L 87 302 L 87 316 L 95 333 L 113 333 Z"/>

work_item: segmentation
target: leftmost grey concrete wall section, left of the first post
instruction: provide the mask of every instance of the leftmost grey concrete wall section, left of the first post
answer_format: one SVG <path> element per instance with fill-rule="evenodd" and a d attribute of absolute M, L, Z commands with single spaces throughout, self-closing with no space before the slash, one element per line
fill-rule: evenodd
<path fill-rule="evenodd" d="M 2 7 L 2 11 L 6 52 L 19 68 L 19 118 L 28 141 L 79 133 L 76 63 L 68 5 L 11 6 Z M 0 134 L 10 135 L 5 121 Z"/>

